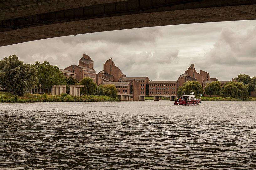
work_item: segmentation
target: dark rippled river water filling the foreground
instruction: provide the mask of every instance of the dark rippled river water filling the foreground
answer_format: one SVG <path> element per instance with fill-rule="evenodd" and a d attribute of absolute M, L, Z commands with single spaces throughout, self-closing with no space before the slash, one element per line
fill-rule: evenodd
<path fill-rule="evenodd" d="M 0 170 L 256 169 L 256 102 L 0 104 Z"/>

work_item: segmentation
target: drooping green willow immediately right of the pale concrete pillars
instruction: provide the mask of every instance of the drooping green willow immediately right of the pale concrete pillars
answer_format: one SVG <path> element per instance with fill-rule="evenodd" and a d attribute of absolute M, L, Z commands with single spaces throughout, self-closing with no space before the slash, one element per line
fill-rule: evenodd
<path fill-rule="evenodd" d="M 86 95 L 97 95 L 97 84 L 93 82 L 90 77 L 85 77 L 80 81 L 81 85 L 85 85 L 83 89 L 81 89 L 81 94 Z"/>

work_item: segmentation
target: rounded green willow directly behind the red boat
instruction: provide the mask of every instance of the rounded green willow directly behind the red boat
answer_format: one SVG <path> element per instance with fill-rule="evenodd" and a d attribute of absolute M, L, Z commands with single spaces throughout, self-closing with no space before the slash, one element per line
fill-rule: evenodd
<path fill-rule="evenodd" d="M 201 84 L 198 81 L 187 81 L 183 84 L 183 86 L 180 86 L 177 90 L 178 95 L 189 95 L 191 93 L 191 90 L 195 93 L 195 95 L 200 95 L 203 93 L 203 88 Z"/>

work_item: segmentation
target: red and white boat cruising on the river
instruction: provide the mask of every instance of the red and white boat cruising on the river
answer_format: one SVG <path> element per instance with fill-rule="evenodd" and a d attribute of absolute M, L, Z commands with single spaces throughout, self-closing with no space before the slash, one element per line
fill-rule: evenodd
<path fill-rule="evenodd" d="M 191 95 L 178 96 L 177 100 L 174 102 L 174 105 L 198 105 L 199 103 L 201 103 L 201 98 L 195 97 L 194 92 L 191 90 Z"/>

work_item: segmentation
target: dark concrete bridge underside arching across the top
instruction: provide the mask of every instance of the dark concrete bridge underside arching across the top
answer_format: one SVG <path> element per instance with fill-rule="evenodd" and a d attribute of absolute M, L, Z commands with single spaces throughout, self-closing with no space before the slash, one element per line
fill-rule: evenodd
<path fill-rule="evenodd" d="M 0 46 L 139 27 L 256 19 L 256 0 L 0 1 Z"/>

